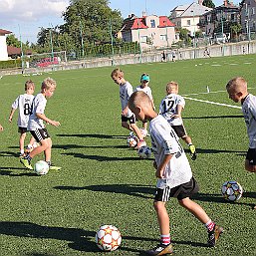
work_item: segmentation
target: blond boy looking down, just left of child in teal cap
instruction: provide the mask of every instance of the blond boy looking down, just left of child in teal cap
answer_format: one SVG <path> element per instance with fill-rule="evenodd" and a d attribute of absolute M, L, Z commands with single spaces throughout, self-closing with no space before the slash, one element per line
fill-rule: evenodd
<path fill-rule="evenodd" d="M 113 81 L 119 85 L 120 87 L 120 100 L 122 106 L 122 127 L 128 128 L 131 131 L 134 131 L 138 137 L 137 141 L 137 148 L 145 145 L 145 141 L 141 131 L 136 126 L 135 116 L 134 114 L 128 109 L 128 99 L 133 92 L 132 86 L 125 80 L 124 72 L 121 69 L 115 69 L 111 77 Z M 128 124 L 129 123 L 129 124 Z"/>

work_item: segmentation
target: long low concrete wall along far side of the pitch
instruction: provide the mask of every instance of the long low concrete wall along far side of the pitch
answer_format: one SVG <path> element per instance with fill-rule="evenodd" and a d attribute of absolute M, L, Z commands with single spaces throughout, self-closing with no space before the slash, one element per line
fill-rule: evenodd
<path fill-rule="evenodd" d="M 206 50 L 208 54 L 206 54 Z M 221 45 L 211 45 L 208 47 L 188 48 L 188 49 L 175 49 L 165 50 L 165 62 L 172 61 L 172 55 L 175 53 L 175 61 L 202 59 L 209 57 L 223 57 L 234 55 L 245 55 L 256 53 L 256 40 L 243 41 L 238 43 L 228 43 Z M 122 66 L 127 64 L 139 64 L 139 63 L 154 63 L 162 62 L 161 52 L 150 52 L 128 56 L 117 56 L 110 58 L 95 58 L 90 60 L 70 61 L 61 63 L 59 65 L 51 65 L 48 67 L 37 67 L 16 70 L 1 70 L 0 75 L 15 75 L 15 74 L 40 74 L 44 72 L 64 71 L 64 70 L 77 70 L 88 68 L 100 68 L 107 66 Z"/>

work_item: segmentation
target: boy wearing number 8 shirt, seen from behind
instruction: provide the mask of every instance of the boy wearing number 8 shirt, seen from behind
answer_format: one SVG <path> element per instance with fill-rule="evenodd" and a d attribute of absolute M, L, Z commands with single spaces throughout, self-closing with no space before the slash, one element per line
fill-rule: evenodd
<path fill-rule="evenodd" d="M 24 156 L 24 143 L 27 133 L 28 121 L 29 116 L 31 114 L 32 109 L 32 102 L 34 99 L 34 91 L 35 91 L 35 84 L 33 81 L 28 80 L 25 83 L 25 91 L 24 95 L 20 95 L 12 104 L 12 110 L 9 116 L 9 122 L 11 123 L 13 120 L 13 115 L 17 109 L 19 109 L 19 116 L 18 116 L 18 132 L 20 132 L 20 156 Z M 35 142 L 35 138 L 32 136 L 30 138 L 30 142 L 27 146 L 27 150 L 31 150 L 33 148 L 33 143 Z"/>

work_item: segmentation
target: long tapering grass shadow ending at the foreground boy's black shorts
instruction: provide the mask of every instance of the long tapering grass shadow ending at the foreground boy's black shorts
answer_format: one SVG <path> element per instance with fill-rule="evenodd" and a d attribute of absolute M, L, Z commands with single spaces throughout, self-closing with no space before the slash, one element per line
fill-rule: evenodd
<path fill-rule="evenodd" d="M 150 185 L 140 185 L 140 184 L 99 184 L 99 185 L 89 185 L 89 186 L 55 186 L 55 189 L 60 190 L 91 190 L 91 191 L 101 191 L 110 193 L 120 193 L 128 194 L 130 196 L 136 196 L 141 198 L 151 198 L 153 199 L 153 194 L 155 192 L 155 187 Z"/>

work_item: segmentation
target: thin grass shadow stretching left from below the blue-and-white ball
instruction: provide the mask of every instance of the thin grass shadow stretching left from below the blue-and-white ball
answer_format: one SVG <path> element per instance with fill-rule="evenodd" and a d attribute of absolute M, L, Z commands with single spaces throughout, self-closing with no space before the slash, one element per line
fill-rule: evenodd
<path fill-rule="evenodd" d="M 91 159 L 91 160 L 98 160 L 98 161 L 124 161 L 124 160 L 141 160 L 138 157 L 117 157 L 117 156 L 103 156 L 103 155 L 96 155 L 96 154 L 84 154 L 84 153 L 75 153 L 75 152 L 69 152 L 69 153 L 61 153 L 65 155 L 72 155 L 74 157 L 78 157 L 81 159 Z M 149 159 L 143 159 L 143 160 L 149 160 Z"/>

